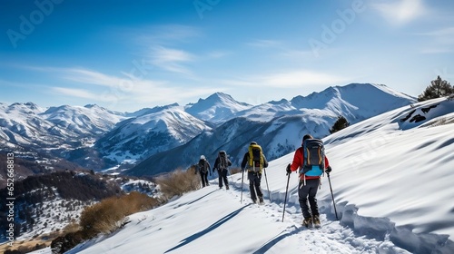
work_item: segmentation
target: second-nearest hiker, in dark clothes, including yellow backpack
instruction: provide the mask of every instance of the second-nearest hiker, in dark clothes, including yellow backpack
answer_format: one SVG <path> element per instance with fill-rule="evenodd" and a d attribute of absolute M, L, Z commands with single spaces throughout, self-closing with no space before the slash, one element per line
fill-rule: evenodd
<path fill-rule="evenodd" d="M 263 193 L 260 188 L 262 181 L 262 169 L 268 167 L 265 155 L 262 152 L 262 147 L 257 142 L 251 142 L 248 151 L 244 153 L 242 158 L 242 171 L 248 171 L 249 190 L 251 191 L 252 202 L 263 203 Z"/>

